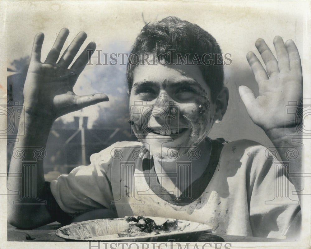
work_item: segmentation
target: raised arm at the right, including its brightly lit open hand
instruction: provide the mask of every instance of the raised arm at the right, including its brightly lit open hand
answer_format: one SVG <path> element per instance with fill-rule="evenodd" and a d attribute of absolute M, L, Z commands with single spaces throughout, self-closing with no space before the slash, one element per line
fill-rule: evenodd
<path fill-rule="evenodd" d="M 303 145 L 302 136 L 297 133 L 300 122 L 297 120 L 298 117 L 285 118 L 285 106 L 289 101 L 300 104 L 303 97 L 300 57 L 292 40 L 284 44 L 282 38 L 276 36 L 273 43 L 278 61 L 263 39 L 258 39 L 255 44 L 266 70 L 253 52 L 247 54 L 248 63 L 258 83 L 259 95 L 255 97 L 246 86 L 240 86 L 239 93 L 249 116 L 266 132 L 282 160 L 286 160 L 288 147 L 298 149 L 299 156 L 290 161 L 290 173 L 301 173 Z M 296 113 L 297 108 L 298 106 Z M 296 190 L 301 189 L 301 178 L 290 180 Z"/>

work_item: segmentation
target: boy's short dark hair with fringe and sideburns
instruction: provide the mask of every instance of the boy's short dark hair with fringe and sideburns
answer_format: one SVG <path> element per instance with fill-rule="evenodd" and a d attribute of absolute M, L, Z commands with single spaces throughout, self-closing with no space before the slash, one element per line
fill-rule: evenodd
<path fill-rule="evenodd" d="M 221 49 L 216 39 L 207 31 L 198 25 L 188 21 L 182 21 L 177 17 L 169 16 L 157 23 L 148 23 L 137 36 L 132 47 L 132 52 L 140 55 L 141 53 L 166 54 L 167 58 L 171 58 L 170 53 L 174 50 L 174 54 L 179 53 L 183 56 L 189 53 L 189 61 L 194 56 L 200 61 L 197 64 L 202 72 L 203 78 L 207 85 L 211 88 L 212 101 L 215 102 L 216 97 L 223 87 L 224 69 L 222 56 L 218 61 L 214 54 L 221 54 Z M 205 53 L 210 53 L 211 63 L 202 62 Z M 127 65 L 127 82 L 128 91 L 131 92 L 133 84 L 133 71 L 139 63 L 131 62 L 130 56 Z M 139 56 L 135 56 L 141 60 Z M 163 57 L 161 57 L 162 59 Z M 218 62 L 218 63 L 217 63 Z"/>

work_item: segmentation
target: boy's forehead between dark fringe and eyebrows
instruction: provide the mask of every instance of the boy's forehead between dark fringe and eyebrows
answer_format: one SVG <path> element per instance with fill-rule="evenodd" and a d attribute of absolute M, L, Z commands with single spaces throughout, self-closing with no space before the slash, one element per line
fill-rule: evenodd
<path fill-rule="evenodd" d="M 155 84 L 166 84 L 178 82 L 191 82 L 200 85 L 205 91 L 209 91 L 202 72 L 196 65 L 163 65 L 161 63 L 150 63 L 138 65 L 133 72 L 133 87 L 135 83 L 151 82 Z"/>

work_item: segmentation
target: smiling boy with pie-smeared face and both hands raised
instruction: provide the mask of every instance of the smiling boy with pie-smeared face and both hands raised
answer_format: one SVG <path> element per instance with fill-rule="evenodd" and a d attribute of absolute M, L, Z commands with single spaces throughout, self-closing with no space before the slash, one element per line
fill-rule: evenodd
<path fill-rule="evenodd" d="M 283 167 L 275 173 L 277 161 L 262 145 L 207 137 L 228 104 L 221 59 L 219 63 L 214 56 L 221 50 L 206 31 L 176 17 L 147 24 L 132 48 L 138 60 L 130 57 L 128 61 L 129 122 L 138 142 L 115 143 L 93 154 L 89 166 L 45 183 L 36 151 L 45 147 L 53 121 L 108 101 L 104 94 L 73 93 L 95 43 L 88 44 L 68 69 L 86 39 L 84 32 L 79 33 L 57 62 L 68 33 L 61 30 L 44 63 L 40 62 L 44 35 L 35 37 L 24 87 L 26 118 L 20 123 L 26 134 L 15 145 L 10 173 L 22 171 L 22 159 L 37 157 L 32 180 L 37 198 L 47 205 L 14 205 L 13 201 L 27 204 L 27 198 L 10 196 L 8 219 L 12 225 L 30 229 L 54 220 L 66 224 L 146 215 L 204 222 L 215 233 L 277 238 L 294 234 L 290 226 L 299 222 L 297 198 L 292 198 L 294 205 L 286 198 L 269 201 L 275 199 L 271 191 L 275 182 L 284 182 L 290 193 L 295 187 L 300 189 L 299 182 L 293 179 L 295 187 L 288 182 Z M 255 98 L 246 86 L 239 92 L 250 117 L 277 148 L 297 147 L 292 137 L 284 136 L 284 127 L 295 134 L 299 122 L 284 123 L 284 106 L 289 100 L 300 103 L 302 99 L 300 58 L 293 41 L 284 44 L 276 37 L 274 45 L 278 61 L 262 39 L 256 42 L 267 71 L 254 53 L 247 54 L 259 96 Z M 212 63 L 206 63 L 207 59 Z M 17 153 L 20 147 L 22 155 Z M 286 159 L 286 150 L 278 152 Z M 294 165 L 299 172 L 299 157 Z M 8 188 L 21 193 L 23 185 L 9 178 Z"/>

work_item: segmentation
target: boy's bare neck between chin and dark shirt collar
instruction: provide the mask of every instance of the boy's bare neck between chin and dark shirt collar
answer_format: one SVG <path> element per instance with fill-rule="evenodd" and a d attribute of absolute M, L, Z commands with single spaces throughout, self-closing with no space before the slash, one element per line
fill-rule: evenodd
<path fill-rule="evenodd" d="M 183 163 L 176 161 L 160 162 L 153 158 L 159 182 L 167 191 L 174 191 L 174 194 L 179 196 L 192 182 L 202 175 L 210 160 L 210 140 L 203 140 L 197 148 L 201 151 L 201 156 L 193 160 L 189 159 L 186 154 L 179 158 L 179 161 L 183 161 Z"/>

